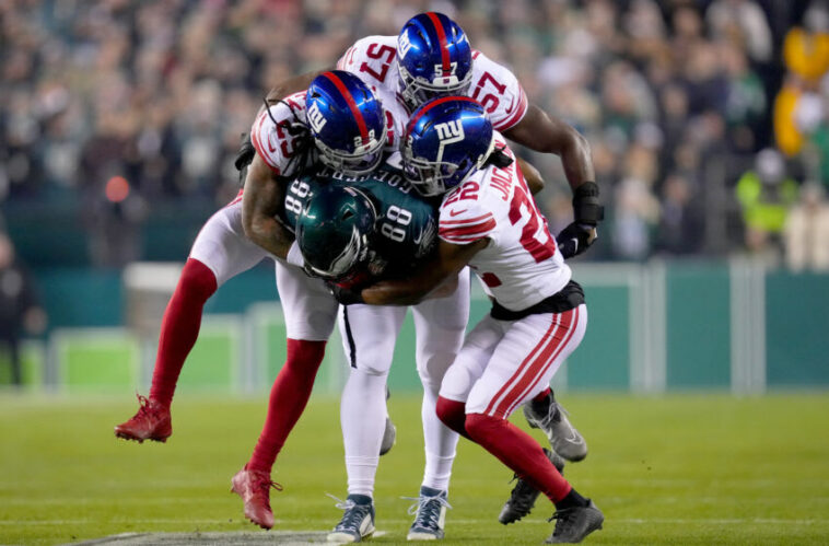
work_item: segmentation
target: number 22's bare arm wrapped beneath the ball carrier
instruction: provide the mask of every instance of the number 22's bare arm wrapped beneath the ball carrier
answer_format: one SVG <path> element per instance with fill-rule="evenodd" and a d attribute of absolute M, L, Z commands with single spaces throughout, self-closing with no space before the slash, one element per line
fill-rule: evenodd
<path fill-rule="evenodd" d="M 458 272 L 479 251 L 489 244 L 489 239 L 458 245 L 440 241 L 434 258 L 421 266 L 411 277 L 402 280 L 385 280 L 364 288 L 360 295 L 370 305 L 413 305 L 420 303 Z"/>

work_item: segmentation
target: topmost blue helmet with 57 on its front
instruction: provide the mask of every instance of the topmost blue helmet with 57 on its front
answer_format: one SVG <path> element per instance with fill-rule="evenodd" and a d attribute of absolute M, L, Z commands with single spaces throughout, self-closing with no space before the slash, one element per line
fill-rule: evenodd
<path fill-rule="evenodd" d="M 472 79 L 472 49 L 443 13 L 411 18 L 397 37 L 400 94 L 410 108 L 436 96 L 463 95 Z"/>

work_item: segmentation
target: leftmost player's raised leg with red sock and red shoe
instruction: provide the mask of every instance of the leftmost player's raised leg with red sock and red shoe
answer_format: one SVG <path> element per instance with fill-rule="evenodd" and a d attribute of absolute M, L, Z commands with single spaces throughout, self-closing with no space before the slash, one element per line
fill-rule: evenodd
<path fill-rule="evenodd" d="M 205 303 L 227 279 L 267 256 L 244 235 L 241 196 L 205 223 L 164 312 L 150 396 L 139 396 L 141 407 L 132 419 L 115 428 L 117 437 L 139 442 L 164 442 L 170 437 L 170 405 L 185 359 L 199 336 Z"/>

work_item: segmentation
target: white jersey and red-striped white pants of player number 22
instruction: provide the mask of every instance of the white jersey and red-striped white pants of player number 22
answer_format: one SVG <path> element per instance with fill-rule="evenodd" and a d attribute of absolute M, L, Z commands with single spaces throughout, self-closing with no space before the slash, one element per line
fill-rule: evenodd
<path fill-rule="evenodd" d="M 498 148 L 513 158 L 503 137 Z M 498 304 L 525 311 L 560 292 L 571 277 L 517 162 L 490 165 L 446 194 L 439 236 L 453 244 L 488 239 L 469 262 Z M 484 317 L 469 333 L 441 385 L 441 396 L 466 403 L 467 414 L 506 418 L 547 388 L 587 326 L 584 304 L 515 321 Z"/>

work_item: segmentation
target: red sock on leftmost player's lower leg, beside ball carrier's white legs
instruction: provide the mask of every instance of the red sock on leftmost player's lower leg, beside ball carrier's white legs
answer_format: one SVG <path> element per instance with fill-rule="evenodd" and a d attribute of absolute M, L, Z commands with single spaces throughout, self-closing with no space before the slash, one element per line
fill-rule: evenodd
<path fill-rule="evenodd" d="M 308 403 L 324 356 L 325 341 L 288 339 L 288 358 L 270 390 L 268 415 L 247 463 L 248 469 L 270 473 L 288 434 Z"/>

